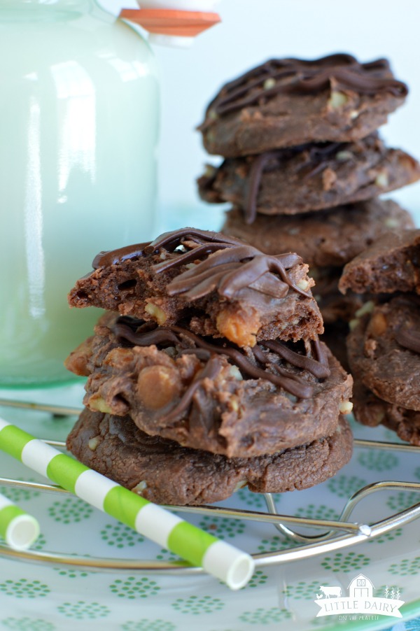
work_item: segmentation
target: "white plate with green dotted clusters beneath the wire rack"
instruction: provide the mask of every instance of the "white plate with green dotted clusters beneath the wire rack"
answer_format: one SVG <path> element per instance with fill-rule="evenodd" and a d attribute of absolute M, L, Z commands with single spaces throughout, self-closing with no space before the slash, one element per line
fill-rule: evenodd
<path fill-rule="evenodd" d="M 6 397 L 80 405 L 80 385 L 32 392 L 3 392 Z M 3 407 L 3 418 L 40 438 L 64 439 L 74 418 L 53 418 L 48 413 Z M 395 440 L 379 428 L 356 426 L 360 438 Z M 8 455 L 0 455 L 0 476 L 41 481 Z M 367 483 L 379 480 L 419 481 L 416 453 L 358 448 L 349 465 L 335 478 L 316 488 L 276 496 L 280 513 L 334 519 L 347 497 Z M 71 495 L 0 488 L 10 499 L 36 516 L 41 537 L 34 550 L 86 557 L 172 560 L 168 551 L 145 541 L 130 528 L 90 508 Z M 360 502 L 351 520 L 372 523 L 420 502 L 420 493 L 376 492 Z M 219 504 L 264 511 L 262 496 L 241 490 Z M 290 546 L 273 525 L 200 515 L 185 518 L 204 530 L 252 553 Z M 401 622 L 372 615 L 350 619 L 338 614 L 317 618 L 314 602 L 320 586 L 340 586 L 362 573 L 374 585 L 374 595 L 398 589 L 405 601 L 405 619 L 420 615 L 420 529 L 414 521 L 405 527 L 357 546 L 313 558 L 264 565 L 248 586 L 231 592 L 222 583 L 198 574 L 167 575 L 151 572 L 86 572 L 50 567 L 0 557 L 0 627 L 20 631 L 123 630 L 123 631 L 289 631 L 349 628 L 381 629 Z M 200 616 L 200 618 L 199 618 Z"/>

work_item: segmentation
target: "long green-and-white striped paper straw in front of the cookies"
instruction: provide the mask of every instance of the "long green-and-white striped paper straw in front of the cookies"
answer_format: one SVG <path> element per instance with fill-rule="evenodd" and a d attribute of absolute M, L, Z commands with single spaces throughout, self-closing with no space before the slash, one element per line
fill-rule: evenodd
<path fill-rule="evenodd" d="M 0 449 L 237 590 L 253 558 L 0 418 Z"/>

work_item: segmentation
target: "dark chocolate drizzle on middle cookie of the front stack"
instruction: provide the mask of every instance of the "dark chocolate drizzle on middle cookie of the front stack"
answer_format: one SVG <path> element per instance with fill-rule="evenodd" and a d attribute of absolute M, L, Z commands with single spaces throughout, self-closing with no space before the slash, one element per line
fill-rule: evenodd
<path fill-rule="evenodd" d="M 113 333 L 120 343 L 128 342 L 133 346 L 151 346 L 155 344 L 162 348 L 175 346 L 179 355 L 194 353 L 200 360 L 205 362 L 210 362 L 217 355 L 225 355 L 231 364 L 239 368 L 242 376 L 245 378 L 265 379 L 300 399 L 309 399 L 314 393 L 314 388 L 307 381 L 304 381 L 302 377 L 283 368 L 281 365 L 282 360 L 297 369 L 309 372 L 318 379 L 325 379 L 330 374 L 321 346 L 316 342 L 312 348 L 314 357 L 309 357 L 308 355 L 297 353 L 280 341 L 262 341 L 251 349 L 251 357 L 253 357 L 253 361 L 251 361 L 250 356 L 246 355 L 244 350 L 235 348 L 235 345 L 227 341 L 214 343 L 214 341 L 203 339 L 201 336 L 179 326 L 158 327 L 157 325 L 152 325 L 152 327 L 150 323 L 145 323 L 143 320 L 130 318 L 130 316 L 121 316 L 113 325 Z M 267 348 L 269 352 L 265 352 L 264 348 Z M 278 358 L 278 363 L 274 361 L 273 355 Z M 221 364 L 211 361 L 212 373 L 216 365 L 218 365 L 219 369 L 221 368 Z M 200 381 L 209 376 L 207 372 L 202 371 L 200 373 Z M 191 388 L 194 391 L 197 388 L 196 380 L 190 384 L 187 392 Z M 184 395 L 186 400 L 190 400 L 190 397 L 186 395 Z M 190 395 L 192 396 L 193 393 L 190 392 Z"/>

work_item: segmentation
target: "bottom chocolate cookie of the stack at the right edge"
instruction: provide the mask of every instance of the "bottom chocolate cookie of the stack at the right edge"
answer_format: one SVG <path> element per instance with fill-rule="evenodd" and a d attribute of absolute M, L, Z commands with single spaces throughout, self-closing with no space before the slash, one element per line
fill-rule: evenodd
<path fill-rule="evenodd" d="M 363 425 L 384 425 L 400 439 L 420 446 L 420 413 L 379 399 L 357 378 L 354 382 L 353 414 Z"/>

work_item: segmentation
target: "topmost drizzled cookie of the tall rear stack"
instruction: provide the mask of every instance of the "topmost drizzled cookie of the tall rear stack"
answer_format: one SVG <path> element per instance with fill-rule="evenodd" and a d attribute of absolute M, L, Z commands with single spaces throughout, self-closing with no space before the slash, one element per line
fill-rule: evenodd
<path fill-rule="evenodd" d="M 225 157 L 351 142 L 383 125 L 406 95 L 386 59 L 270 59 L 224 85 L 199 129 L 207 151 Z"/>

